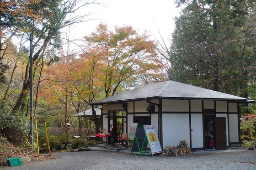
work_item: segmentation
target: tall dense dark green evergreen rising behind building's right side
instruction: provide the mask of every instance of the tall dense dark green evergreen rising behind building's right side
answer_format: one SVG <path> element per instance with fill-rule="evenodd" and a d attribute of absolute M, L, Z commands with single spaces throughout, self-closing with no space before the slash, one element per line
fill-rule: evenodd
<path fill-rule="evenodd" d="M 171 79 L 250 97 L 255 83 L 253 0 L 176 0 Z"/>

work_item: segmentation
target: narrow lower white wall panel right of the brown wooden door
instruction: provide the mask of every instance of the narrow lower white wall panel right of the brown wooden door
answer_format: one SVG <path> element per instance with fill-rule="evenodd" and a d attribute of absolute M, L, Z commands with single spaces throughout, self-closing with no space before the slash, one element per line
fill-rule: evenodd
<path fill-rule="evenodd" d="M 237 114 L 229 114 L 229 139 L 230 142 L 239 142 Z"/>

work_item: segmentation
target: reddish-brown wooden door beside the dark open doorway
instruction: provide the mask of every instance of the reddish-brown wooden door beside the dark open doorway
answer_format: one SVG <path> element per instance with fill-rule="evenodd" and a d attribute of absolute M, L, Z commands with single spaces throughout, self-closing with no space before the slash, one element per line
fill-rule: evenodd
<path fill-rule="evenodd" d="M 216 150 L 227 149 L 226 118 L 215 118 Z"/>

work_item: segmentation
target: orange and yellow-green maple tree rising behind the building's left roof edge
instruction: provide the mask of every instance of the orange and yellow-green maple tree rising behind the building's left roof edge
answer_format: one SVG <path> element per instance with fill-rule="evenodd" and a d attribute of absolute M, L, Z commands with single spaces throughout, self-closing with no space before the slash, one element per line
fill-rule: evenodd
<path fill-rule="evenodd" d="M 116 27 L 115 31 L 110 31 L 107 25 L 100 24 L 95 32 L 85 36 L 86 53 L 82 56 L 97 60 L 97 78 L 107 98 L 134 84 L 139 75 L 161 67 L 156 59 L 155 46 L 146 32 L 139 34 L 132 26 Z"/>

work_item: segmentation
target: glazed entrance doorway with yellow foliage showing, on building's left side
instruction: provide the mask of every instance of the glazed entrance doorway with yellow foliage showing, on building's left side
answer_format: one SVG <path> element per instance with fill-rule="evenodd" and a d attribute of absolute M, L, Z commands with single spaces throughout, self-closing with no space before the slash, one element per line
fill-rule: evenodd
<path fill-rule="evenodd" d="M 109 138 L 109 142 L 116 143 L 117 138 L 121 138 L 126 133 L 126 111 L 110 110 L 108 112 L 108 132 L 114 134 L 113 138 Z"/>

